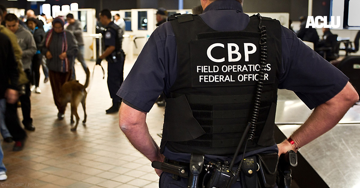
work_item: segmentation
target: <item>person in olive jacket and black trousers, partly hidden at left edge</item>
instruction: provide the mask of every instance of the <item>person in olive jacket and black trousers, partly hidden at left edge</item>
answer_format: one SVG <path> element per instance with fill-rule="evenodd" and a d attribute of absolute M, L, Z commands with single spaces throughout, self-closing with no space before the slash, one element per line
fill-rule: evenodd
<path fill-rule="evenodd" d="M 0 22 L 3 20 L 3 12 L 2 9 L 0 9 Z M 8 28 L 4 27 L 3 25 L 0 25 L 0 33 L 3 33 L 4 35 L 6 35 L 11 42 L 11 45 L 13 47 L 13 52 L 15 55 L 15 60 L 17 62 L 17 71 L 19 74 L 18 77 L 18 93 L 22 93 L 22 95 L 25 95 L 25 84 L 27 84 L 29 82 L 29 80 L 26 78 L 26 74 L 23 70 L 23 65 L 22 65 L 22 50 L 18 44 L 18 40 L 16 35 L 10 31 Z M 5 124 L 6 124 L 6 128 L 8 128 L 10 134 L 13 136 L 13 140 L 15 141 L 14 147 L 13 147 L 13 151 L 20 151 L 23 149 L 24 147 L 24 143 L 27 137 L 27 134 L 25 132 L 25 130 L 21 127 L 20 125 L 20 121 L 19 121 L 19 116 L 18 116 L 18 111 L 17 111 L 17 103 L 9 103 L 6 102 L 6 106 L 5 108 Z"/>

